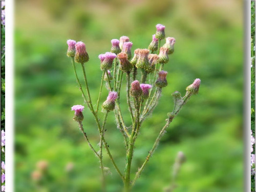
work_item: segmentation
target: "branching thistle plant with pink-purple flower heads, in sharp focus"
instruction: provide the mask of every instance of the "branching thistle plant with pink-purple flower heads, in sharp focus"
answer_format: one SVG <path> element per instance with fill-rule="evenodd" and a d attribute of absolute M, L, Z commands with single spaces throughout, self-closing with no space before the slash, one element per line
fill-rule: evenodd
<path fill-rule="evenodd" d="M 156 108 L 161 97 L 162 89 L 167 87 L 167 72 L 163 71 L 165 65 L 169 61 L 170 54 L 174 53 L 175 38 L 167 37 L 166 43 L 160 47 L 161 40 L 165 38 L 165 26 L 158 24 L 157 32 L 153 35 L 153 40 L 148 46 L 148 49 L 137 48 L 132 54 L 133 46 L 130 38 L 127 36 L 118 39 L 112 39 L 109 51 L 99 55 L 99 70 L 102 71 L 101 81 L 99 83 L 99 94 L 97 100 L 91 98 L 89 84 L 87 81 L 86 62 L 89 61 L 89 55 L 86 51 L 86 45 L 83 42 L 75 42 L 68 40 L 67 55 L 71 58 L 72 66 L 75 73 L 75 78 L 78 83 L 79 90 L 84 100 L 83 105 L 74 105 L 72 110 L 75 111 L 73 119 L 78 123 L 80 132 L 84 139 L 88 142 L 89 147 L 99 159 L 101 169 L 102 191 L 106 191 L 105 177 L 109 172 L 109 168 L 104 166 L 104 158 L 102 150 L 105 148 L 116 172 L 123 181 L 124 191 L 131 191 L 137 179 L 141 176 L 148 160 L 152 157 L 161 138 L 166 133 L 166 129 L 173 119 L 179 114 L 182 107 L 188 99 L 198 93 L 200 79 L 196 79 L 186 88 L 186 94 L 182 97 L 181 93 L 176 91 L 172 94 L 174 100 L 174 108 L 167 113 L 165 125 L 160 130 L 156 137 L 148 155 L 144 162 L 137 170 L 134 178 L 131 178 L 133 155 L 135 151 L 136 140 L 139 137 L 140 129 L 144 120 L 150 116 Z M 107 50 L 108 51 L 108 50 Z M 76 62 L 76 63 L 75 63 Z M 77 69 L 83 72 L 83 81 L 85 87 L 82 87 L 81 79 L 77 75 Z M 112 75 L 111 75 L 112 73 Z M 127 109 L 129 110 L 131 120 L 124 121 L 123 109 L 120 108 L 120 92 L 124 83 L 124 74 L 126 76 L 126 100 Z M 102 95 L 103 81 L 106 81 L 106 88 L 109 95 Z M 93 146 L 83 128 L 83 110 L 89 110 L 95 119 L 96 127 L 99 133 L 99 146 Z M 113 111 L 113 112 L 112 112 Z M 108 142 L 105 138 L 105 126 L 108 120 L 108 115 L 114 115 L 116 119 L 117 131 L 120 131 L 125 147 L 126 160 L 123 162 L 123 168 L 117 166 L 115 157 L 110 151 Z M 100 119 L 103 121 L 101 123 Z M 84 118 L 86 119 L 86 118 Z"/>

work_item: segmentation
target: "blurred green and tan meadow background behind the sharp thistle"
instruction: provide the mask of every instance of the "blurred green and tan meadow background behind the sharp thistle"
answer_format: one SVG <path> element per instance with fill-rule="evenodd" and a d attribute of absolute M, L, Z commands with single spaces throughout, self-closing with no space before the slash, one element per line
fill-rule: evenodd
<path fill-rule="evenodd" d="M 242 8 L 239 0 L 16 1 L 15 191 L 101 190 L 98 159 L 72 119 L 71 106 L 83 100 L 66 56 L 66 41 L 86 43 L 90 56 L 86 69 L 96 103 L 101 78 L 98 55 L 110 51 L 111 39 L 122 35 L 130 37 L 132 51 L 147 48 L 160 23 L 166 26 L 166 36 L 176 38 L 175 52 L 165 65 L 168 87 L 137 139 L 132 173 L 144 161 L 167 112 L 173 109 L 171 94 L 178 90 L 184 95 L 195 78 L 201 79 L 201 86 L 170 124 L 133 191 L 162 191 L 170 182 L 175 156 L 182 151 L 187 161 L 175 191 L 241 192 Z M 80 70 L 78 75 L 82 78 Z M 125 87 L 122 90 L 121 108 L 128 122 Z M 107 95 L 103 89 L 101 102 Z M 111 112 L 105 135 L 123 170 L 124 144 L 113 116 Z M 88 109 L 83 123 L 96 146 L 99 136 Z M 121 191 L 122 181 L 105 157 L 103 162 L 112 172 L 107 178 L 108 191 Z M 47 161 L 48 168 L 40 174 L 36 164 L 41 160 Z"/>

